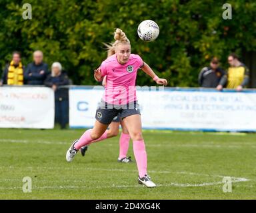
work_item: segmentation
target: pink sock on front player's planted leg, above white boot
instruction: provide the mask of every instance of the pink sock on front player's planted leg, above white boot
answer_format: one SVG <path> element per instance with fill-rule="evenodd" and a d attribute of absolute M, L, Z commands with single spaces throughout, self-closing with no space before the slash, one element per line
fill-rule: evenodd
<path fill-rule="evenodd" d="M 133 140 L 133 152 L 139 170 L 139 177 L 147 174 L 147 152 L 144 140 Z"/>

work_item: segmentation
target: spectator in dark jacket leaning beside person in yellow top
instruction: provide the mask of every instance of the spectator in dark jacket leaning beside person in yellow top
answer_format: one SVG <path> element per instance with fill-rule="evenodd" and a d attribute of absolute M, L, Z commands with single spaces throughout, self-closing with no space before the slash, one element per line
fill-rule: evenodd
<path fill-rule="evenodd" d="M 219 67 L 219 59 L 213 57 L 210 67 L 204 67 L 199 74 L 200 87 L 211 87 L 221 91 L 227 83 L 227 75 L 223 69 Z"/>

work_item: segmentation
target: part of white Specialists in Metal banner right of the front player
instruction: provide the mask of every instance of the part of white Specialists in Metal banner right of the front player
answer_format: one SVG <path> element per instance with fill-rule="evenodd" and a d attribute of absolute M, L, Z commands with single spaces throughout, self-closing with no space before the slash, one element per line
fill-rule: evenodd
<path fill-rule="evenodd" d="M 256 93 L 139 92 L 144 128 L 255 131 Z"/>

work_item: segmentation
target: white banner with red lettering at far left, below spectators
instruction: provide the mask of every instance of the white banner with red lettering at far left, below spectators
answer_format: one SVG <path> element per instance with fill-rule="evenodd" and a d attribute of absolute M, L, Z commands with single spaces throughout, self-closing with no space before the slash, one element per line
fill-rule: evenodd
<path fill-rule="evenodd" d="M 54 92 L 47 87 L 0 87 L 0 128 L 53 128 Z"/>

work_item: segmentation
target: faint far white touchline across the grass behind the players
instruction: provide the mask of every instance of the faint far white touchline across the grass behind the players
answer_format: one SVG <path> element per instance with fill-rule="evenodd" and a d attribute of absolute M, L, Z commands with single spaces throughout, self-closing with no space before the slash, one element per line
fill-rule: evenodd
<path fill-rule="evenodd" d="M 70 144 L 71 142 L 61 142 L 61 141 L 45 141 L 45 140 L 19 140 L 19 139 L 0 139 L 0 142 L 11 142 L 11 143 L 33 143 L 33 144 L 63 144 L 67 145 Z M 165 141 L 167 142 L 167 141 Z M 107 143 L 107 146 L 116 146 L 117 144 L 113 143 Z M 255 143 L 247 143 L 245 142 L 244 144 L 242 143 L 237 143 L 237 144 L 211 144 L 211 142 L 205 142 L 205 144 L 147 144 L 146 146 L 149 147 L 199 147 L 199 148 L 256 148 L 256 142 Z"/>

